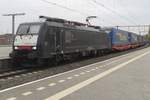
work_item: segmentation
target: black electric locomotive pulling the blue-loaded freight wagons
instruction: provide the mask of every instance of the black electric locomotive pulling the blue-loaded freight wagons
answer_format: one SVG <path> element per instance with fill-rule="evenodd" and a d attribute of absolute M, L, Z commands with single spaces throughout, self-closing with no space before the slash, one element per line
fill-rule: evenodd
<path fill-rule="evenodd" d="M 18 27 L 10 54 L 14 62 L 59 61 L 80 55 L 97 55 L 111 49 L 108 35 L 97 26 L 40 16 L 44 22 Z"/>

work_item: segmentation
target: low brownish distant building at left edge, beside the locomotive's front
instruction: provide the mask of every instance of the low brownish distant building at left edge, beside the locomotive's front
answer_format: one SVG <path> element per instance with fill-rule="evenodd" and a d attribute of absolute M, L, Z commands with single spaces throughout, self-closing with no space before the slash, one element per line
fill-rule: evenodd
<path fill-rule="evenodd" d="M 11 45 L 13 38 L 12 34 L 0 35 L 0 45 Z"/>

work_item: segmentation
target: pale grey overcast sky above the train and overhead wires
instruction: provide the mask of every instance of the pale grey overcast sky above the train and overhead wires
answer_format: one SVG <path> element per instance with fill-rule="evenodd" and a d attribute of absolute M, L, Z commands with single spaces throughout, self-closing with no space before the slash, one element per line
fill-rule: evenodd
<path fill-rule="evenodd" d="M 150 0 L 96 0 L 105 7 L 115 10 L 121 16 L 96 5 L 92 0 L 47 0 L 75 9 L 88 15 L 96 15 L 98 19 L 92 21 L 95 25 L 133 25 L 149 24 Z M 16 17 L 16 28 L 21 22 L 39 21 L 39 15 L 59 17 L 69 20 L 85 22 L 86 15 L 71 12 L 66 9 L 48 4 L 42 0 L 0 0 L 0 15 L 6 13 L 25 12 L 25 16 Z M 134 23 L 133 23 L 134 22 Z M 0 16 L 0 34 L 11 32 L 11 17 Z"/>

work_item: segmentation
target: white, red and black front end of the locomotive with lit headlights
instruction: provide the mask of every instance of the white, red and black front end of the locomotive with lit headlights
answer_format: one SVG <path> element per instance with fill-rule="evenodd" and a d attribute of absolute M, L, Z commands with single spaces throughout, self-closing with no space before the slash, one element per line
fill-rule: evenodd
<path fill-rule="evenodd" d="M 17 60 L 34 59 L 38 53 L 38 37 L 42 23 L 23 23 L 18 27 L 10 57 Z"/>

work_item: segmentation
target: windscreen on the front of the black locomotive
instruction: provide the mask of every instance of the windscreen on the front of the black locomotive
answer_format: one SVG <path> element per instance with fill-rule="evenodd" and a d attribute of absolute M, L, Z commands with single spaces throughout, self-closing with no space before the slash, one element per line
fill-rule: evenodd
<path fill-rule="evenodd" d="M 23 24 L 19 26 L 17 34 L 37 34 L 39 33 L 40 27 L 40 24 Z"/>

